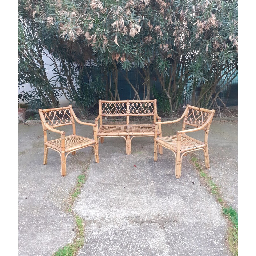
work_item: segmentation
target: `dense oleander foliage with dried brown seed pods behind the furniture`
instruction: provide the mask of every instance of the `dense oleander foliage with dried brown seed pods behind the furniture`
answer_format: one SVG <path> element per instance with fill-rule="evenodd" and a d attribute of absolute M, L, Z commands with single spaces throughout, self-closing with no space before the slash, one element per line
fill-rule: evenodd
<path fill-rule="evenodd" d="M 19 84 L 36 88 L 29 95 L 36 104 L 55 106 L 64 94 L 82 110 L 99 97 L 119 100 L 118 71 L 134 68 L 144 80 L 144 99 L 152 97 L 156 74 L 169 114 L 188 93 L 193 105 L 211 107 L 237 69 L 237 20 L 237 0 L 20 0 Z M 50 79 L 45 54 L 55 71 Z M 101 70 L 96 83 L 86 65 Z"/>

